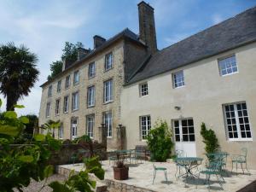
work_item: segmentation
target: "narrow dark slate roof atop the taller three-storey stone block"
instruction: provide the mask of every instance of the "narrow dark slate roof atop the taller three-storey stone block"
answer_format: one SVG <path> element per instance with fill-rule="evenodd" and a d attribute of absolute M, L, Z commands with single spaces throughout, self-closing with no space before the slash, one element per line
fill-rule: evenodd
<path fill-rule="evenodd" d="M 104 44 L 102 44 L 101 46 L 99 46 L 96 49 L 92 49 L 91 52 L 88 55 L 85 55 L 83 58 L 81 58 L 79 61 L 75 61 L 72 64 L 70 64 L 65 71 L 59 73 L 58 75 L 55 76 L 54 79 L 51 79 L 49 81 L 46 81 L 44 84 L 40 85 L 40 87 L 43 87 L 45 84 L 49 84 L 50 82 L 54 81 L 55 79 L 57 79 L 58 77 L 61 76 L 62 73 L 65 73 L 69 68 L 72 68 L 74 66 L 79 65 L 79 63 L 87 60 L 88 58 L 90 58 L 93 55 L 96 55 L 98 52 L 102 51 L 102 49 L 107 48 L 108 46 L 110 46 L 111 44 L 113 44 L 115 41 L 119 40 L 120 38 L 127 38 L 137 44 L 141 44 L 143 46 L 146 46 L 142 41 L 139 40 L 139 37 L 137 36 L 136 33 L 131 32 L 130 29 L 125 28 L 122 32 L 119 32 L 118 34 L 116 34 L 115 36 L 113 36 L 113 38 L 109 38 Z"/>

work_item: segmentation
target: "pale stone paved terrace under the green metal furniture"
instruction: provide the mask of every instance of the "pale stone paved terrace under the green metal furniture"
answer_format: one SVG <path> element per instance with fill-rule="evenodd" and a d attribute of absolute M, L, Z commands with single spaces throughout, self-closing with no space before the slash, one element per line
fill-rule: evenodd
<path fill-rule="evenodd" d="M 185 186 L 184 178 L 181 177 L 179 180 L 175 177 L 176 165 L 174 163 L 155 163 L 156 166 L 164 166 L 167 168 L 168 182 L 166 183 L 163 172 L 157 172 L 154 184 L 152 184 L 153 179 L 153 166 L 152 162 L 143 161 L 139 162 L 137 165 L 130 165 L 129 179 L 124 181 L 118 181 L 113 179 L 113 168 L 112 165 L 109 166 L 108 160 L 102 161 L 102 167 L 105 170 L 105 180 L 103 183 L 107 184 L 108 191 L 208 191 L 207 184 L 204 184 L 204 175 L 201 175 L 201 179 L 198 181 L 198 188 L 196 189 L 196 180 L 188 179 L 188 183 Z M 205 165 L 205 162 L 202 162 Z M 200 166 L 199 169 L 202 169 Z M 63 165 L 59 167 L 59 173 L 67 174 L 69 170 L 80 171 L 83 169 L 83 164 L 74 165 Z M 230 170 L 230 169 L 228 169 Z M 235 170 L 236 171 L 236 170 Z M 243 187 L 247 186 L 256 180 L 256 170 L 249 170 L 251 174 L 242 174 L 241 170 L 238 170 L 238 174 L 228 172 L 229 176 L 224 174 L 225 183 L 223 183 L 223 188 L 221 189 L 219 184 L 216 183 L 216 177 L 212 176 L 211 180 L 211 191 L 225 191 L 232 192 L 238 191 Z M 102 185 L 102 181 L 100 182 Z"/>

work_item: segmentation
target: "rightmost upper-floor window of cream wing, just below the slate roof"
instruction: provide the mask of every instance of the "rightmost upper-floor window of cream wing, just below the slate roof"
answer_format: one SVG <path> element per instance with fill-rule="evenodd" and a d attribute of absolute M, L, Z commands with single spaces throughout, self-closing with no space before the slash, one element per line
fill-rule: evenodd
<path fill-rule="evenodd" d="M 218 60 L 218 68 L 221 76 L 237 73 L 236 56 L 232 55 L 228 58 Z"/>

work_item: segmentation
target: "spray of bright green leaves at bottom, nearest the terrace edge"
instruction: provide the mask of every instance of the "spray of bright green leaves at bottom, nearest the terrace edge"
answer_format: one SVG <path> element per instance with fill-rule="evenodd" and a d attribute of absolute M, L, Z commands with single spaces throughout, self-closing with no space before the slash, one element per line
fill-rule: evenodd
<path fill-rule="evenodd" d="M 85 170 L 75 174 L 71 172 L 67 181 L 64 183 L 53 182 L 49 184 L 49 187 L 53 189 L 53 192 L 92 192 L 96 189 L 96 181 L 90 179 L 90 173 L 94 174 L 99 179 L 104 179 L 104 170 L 99 163 L 97 157 L 84 160 Z"/>

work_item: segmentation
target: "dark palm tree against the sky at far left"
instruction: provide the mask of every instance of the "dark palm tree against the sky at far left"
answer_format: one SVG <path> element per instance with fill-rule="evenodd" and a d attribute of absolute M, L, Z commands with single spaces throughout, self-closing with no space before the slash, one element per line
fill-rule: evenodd
<path fill-rule="evenodd" d="M 28 96 L 38 80 L 36 62 L 38 56 L 29 52 L 24 45 L 14 43 L 0 46 L 0 92 L 7 99 L 6 110 L 14 110 L 14 105 L 23 96 Z"/>

